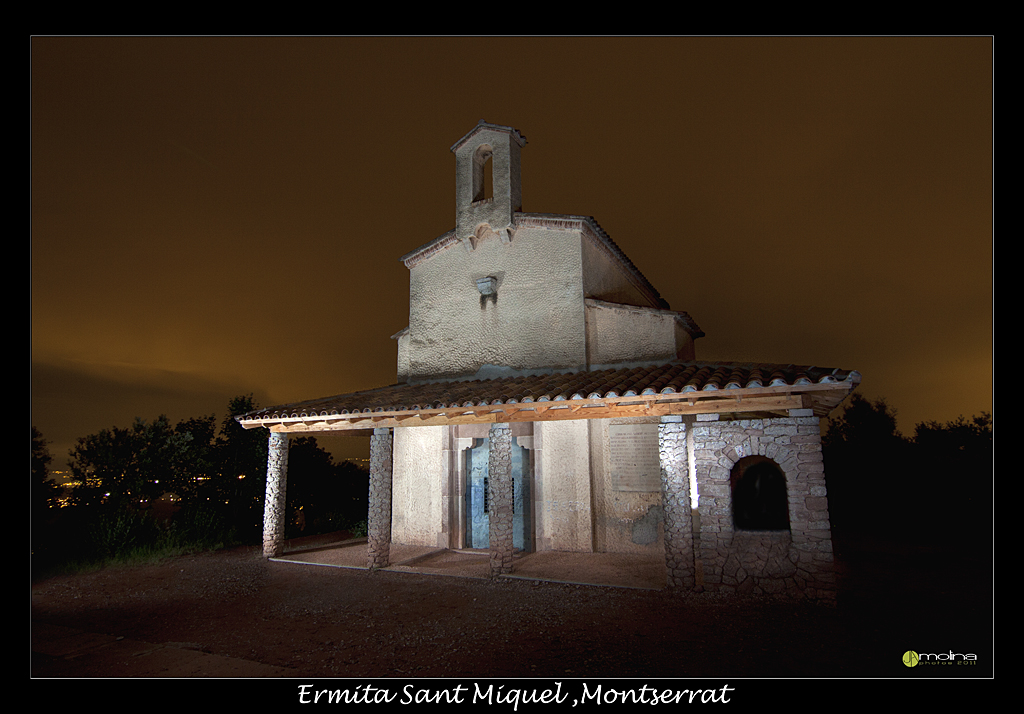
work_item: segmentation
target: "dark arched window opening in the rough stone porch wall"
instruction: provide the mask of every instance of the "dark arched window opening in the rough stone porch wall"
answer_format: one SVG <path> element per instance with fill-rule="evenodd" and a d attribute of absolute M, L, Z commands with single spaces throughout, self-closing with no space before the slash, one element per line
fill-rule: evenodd
<path fill-rule="evenodd" d="M 732 524 L 737 531 L 788 531 L 790 500 L 785 474 L 771 459 L 748 456 L 729 476 Z"/>

